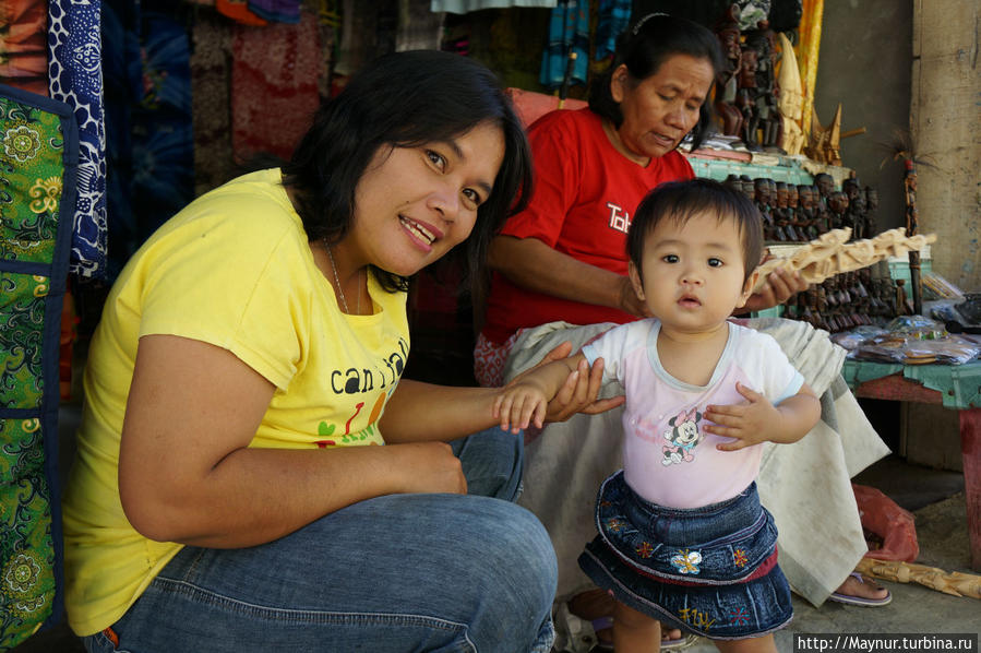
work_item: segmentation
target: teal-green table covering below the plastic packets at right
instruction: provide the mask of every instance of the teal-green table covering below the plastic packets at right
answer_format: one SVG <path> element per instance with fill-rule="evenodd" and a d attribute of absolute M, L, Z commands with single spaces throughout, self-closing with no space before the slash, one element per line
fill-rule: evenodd
<path fill-rule="evenodd" d="M 936 390 L 947 408 L 981 406 L 981 361 L 966 365 L 898 365 L 848 359 L 841 376 L 854 390 L 866 381 L 901 372 L 910 381 Z"/>

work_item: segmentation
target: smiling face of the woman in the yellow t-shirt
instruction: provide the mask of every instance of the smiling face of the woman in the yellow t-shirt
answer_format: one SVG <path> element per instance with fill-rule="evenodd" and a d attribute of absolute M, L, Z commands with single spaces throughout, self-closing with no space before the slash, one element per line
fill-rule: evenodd
<path fill-rule="evenodd" d="M 470 235 L 503 161 L 504 138 L 491 122 L 447 141 L 380 149 L 355 191 L 349 253 L 415 274 Z"/>

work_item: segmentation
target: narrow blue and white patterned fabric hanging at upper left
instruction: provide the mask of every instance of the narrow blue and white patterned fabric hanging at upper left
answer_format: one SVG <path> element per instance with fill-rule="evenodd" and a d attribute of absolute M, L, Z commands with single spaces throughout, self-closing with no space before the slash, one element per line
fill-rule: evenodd
<path fill-rule="evenodd" d="M 48 84 L 79 124 L 79 200 L 70 270 L 100 277 L 106 264 L 106 129 L 98 0 L 48 0 Z"/>

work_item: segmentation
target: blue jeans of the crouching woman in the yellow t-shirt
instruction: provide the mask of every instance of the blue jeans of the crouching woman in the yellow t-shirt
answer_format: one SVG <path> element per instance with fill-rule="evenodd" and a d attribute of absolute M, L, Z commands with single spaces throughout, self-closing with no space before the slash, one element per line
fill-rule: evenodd
<path fill-rule="evenodd" d="M 555 555 L 517 498 L 522 437 L 455 443 L 469 495 L 392 495 L 246 549 L 186 547 L 89 653 L 547 653 Z M 477 496 L 477 494 L 482 496 Z"/>

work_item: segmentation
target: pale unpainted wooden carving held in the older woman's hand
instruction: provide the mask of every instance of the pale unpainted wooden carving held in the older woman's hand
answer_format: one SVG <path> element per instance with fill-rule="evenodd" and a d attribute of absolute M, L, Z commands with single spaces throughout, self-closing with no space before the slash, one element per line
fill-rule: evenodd
<path fill-rule="evenodd" d="M 902 227 L 883 231 L 874 238 L 849 242 L 850 237 L 850 228 L 832 229 L 789 257 L 764 261 L 757 268 L 759 278 L 754 292 L 763 287 L 767 275 L 777 268 L 797 270 L 805 282 L 817 284 L 836 274 L 861 270 L 889 257 L 919 251 L 928 244 L 936 241 L 936 234 L 907 236 Z"/>

